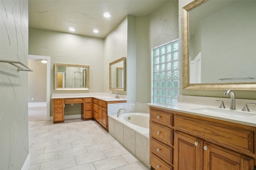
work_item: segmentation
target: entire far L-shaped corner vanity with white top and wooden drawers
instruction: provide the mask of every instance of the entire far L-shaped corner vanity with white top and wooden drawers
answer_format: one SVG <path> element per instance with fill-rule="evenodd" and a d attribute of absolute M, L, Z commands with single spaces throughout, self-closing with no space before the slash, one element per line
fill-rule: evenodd
<path fill-rule="evenodd" d="M 82 119 L 95 119 L 108 130 L 108 104 L 126 103 L 126 99 L 96 94 L 52 94 L 53 123 L 64 122 L 65 104 L 81 104 Z"/>

